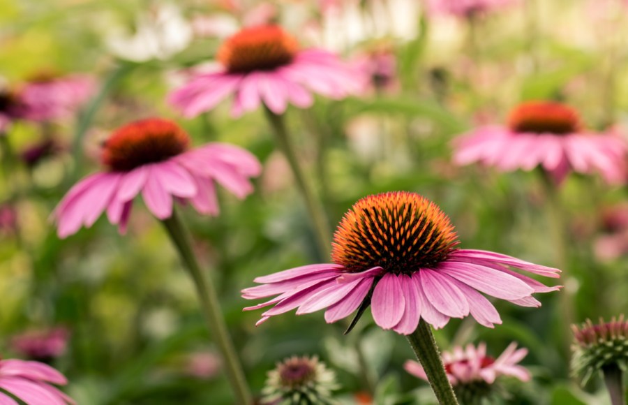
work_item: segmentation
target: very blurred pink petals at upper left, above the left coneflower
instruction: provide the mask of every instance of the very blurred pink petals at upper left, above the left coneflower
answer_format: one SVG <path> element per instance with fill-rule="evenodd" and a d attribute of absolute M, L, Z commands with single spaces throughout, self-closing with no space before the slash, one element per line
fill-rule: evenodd
<path fill-rule="evenodd" d="M 94 93 L 94 81 L 86 75 L 59 76 L 43 72 L 33 76 L 20 89 L 31 121 L 70 117 Z"/>

